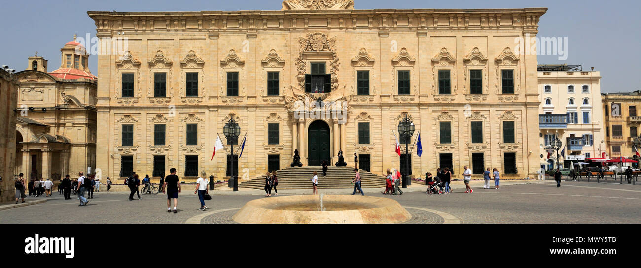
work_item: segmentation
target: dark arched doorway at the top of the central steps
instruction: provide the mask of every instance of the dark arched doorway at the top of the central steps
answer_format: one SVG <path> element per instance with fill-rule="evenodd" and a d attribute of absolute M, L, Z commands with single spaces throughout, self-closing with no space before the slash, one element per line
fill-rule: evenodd
<path fill-rule="evenodd" d="M 329 154 L 329 125 L 321 120 L 312 122 L 307 132 L 308 166 L 320 166 L 331 161 Z"/>

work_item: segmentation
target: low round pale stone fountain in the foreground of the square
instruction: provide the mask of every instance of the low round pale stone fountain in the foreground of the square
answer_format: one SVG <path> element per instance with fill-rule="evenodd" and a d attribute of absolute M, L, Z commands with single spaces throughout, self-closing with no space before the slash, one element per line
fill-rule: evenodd
<path fill-rule="evenodd" d="M 390 198 L 337 194 L 252 200 L 232 217 L 237 223 L 403 223 L 411 218 Z"/>

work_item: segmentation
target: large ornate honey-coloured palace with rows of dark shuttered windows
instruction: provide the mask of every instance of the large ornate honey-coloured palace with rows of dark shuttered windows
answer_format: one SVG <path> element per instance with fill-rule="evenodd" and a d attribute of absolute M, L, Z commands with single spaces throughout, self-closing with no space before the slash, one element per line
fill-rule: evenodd
<path fill-rule="evenodd" d="M 97 167 L 103 177 L 175 167 L 221 179 L 229 157 L 210 157 L 217 134 L 229 153 L 222 127 L 235 118 L 247 133 L 245 178 L 285 168 L 294 150 L 319 165 L 342 149 L 382 174 L 404 169 L 394 135 L 407 115 L 415 175 L 467 165 L 533 177 L 537 56 L 515 48 L 537 35 L 545 11 L 296 0 L 279 11 L 88 12 L 102 44 L 128 40 L 126 51 L 98 56 Z"/>

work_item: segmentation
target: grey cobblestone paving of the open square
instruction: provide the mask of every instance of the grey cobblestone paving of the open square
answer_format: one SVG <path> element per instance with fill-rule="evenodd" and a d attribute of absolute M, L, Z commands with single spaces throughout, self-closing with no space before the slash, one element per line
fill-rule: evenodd
<path fill-rule="evenodd" d="M 424 186 L 423 186 L 424 187 Z M 423 191 L 393 198 L 412 214 L 408 223 L 442 223 L 437 214 L 418 207 L 451 214 L 461 223 L 639 223 L 641 222 L 641 185 L 597 184 L 596 182 L 555 182 L 506 185 L 499 190 L 474 188 L 472 194 L 454 189 L 453 194 L 428 195 Z M 373 189 L 372 189 L 373 190 Z M 365 191 L 366 194 L 367 191 Z M 202 215 L 192 191 L 183 191 L 178 200 L 178 214 L 167 213 L 163 194 L 145 195 L 128 201 L 128 194 L 94 193 L 85 207 L 78 200 L 64 200 L 57 193 L 46 203 L 0 211 L 0 223 L 184 223 Z M 208 210 L 240 208 L 249 200 L 265 198 L 258 194 L 212 195 Z M 38 200 L 30 198 L 27 200 Z M 204 217 L 201 223 L 232 223 L 229 210 Z M 207 213 L 204 212 L 204 213 Z"/>

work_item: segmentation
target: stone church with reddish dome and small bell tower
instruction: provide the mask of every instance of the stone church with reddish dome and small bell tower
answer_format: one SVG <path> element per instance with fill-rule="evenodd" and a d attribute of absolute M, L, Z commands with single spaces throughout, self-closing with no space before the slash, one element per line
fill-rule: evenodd
<path fill-rule="evenodd" d="M 96 168 L 96 75 L 85 47 L 74 41 L 60 49 L 60 68 L 49 72 L 42 56 L 28 58 L 17 106 L 15 173 L 57 180 Z"/>

